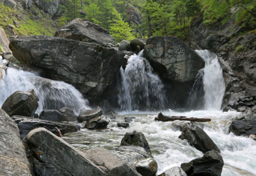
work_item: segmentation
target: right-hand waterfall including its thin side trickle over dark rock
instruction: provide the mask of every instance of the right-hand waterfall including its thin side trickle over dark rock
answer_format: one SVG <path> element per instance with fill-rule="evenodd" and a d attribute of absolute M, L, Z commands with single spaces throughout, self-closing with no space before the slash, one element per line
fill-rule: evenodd
<path fill-rule="evenodd" d="M 205 61 L 205 67 L 196 76 L 188 102 L 197 109 L 201 106 L 205 110 L 220 110 L 226 88 L 218 57 L 208 50 L 196 52 Z"/>

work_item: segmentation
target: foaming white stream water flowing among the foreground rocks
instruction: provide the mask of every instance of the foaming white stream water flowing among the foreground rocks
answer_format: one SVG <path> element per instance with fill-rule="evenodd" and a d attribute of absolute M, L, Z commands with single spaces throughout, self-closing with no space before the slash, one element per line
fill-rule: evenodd
<path fill-rule="evenodd" d="M 64 135 L 64 140 L 81 150 L 93 147 L 112 149 L 120 146 L 122 137 L 127 132 L 138 130 L 142 132 L 152 150 L 152 155 L 158 162 L 158 173 L 173 166 L 181 166 L 184 162 L 202 157 L 203 153 L 179 139 L 181 131 L 179 124 L 184 121 L 162 122 L 154 121 L 156 113 L 125 112 L 119 113 L 116 120 L 112 120 L 105 130 L 87 130 Z M 221 111 L 196 110 L 185 113 L 163 112 L 164 115 L 185 115 L 187 117 L 211 118 L 207 123 L 194 123 L 205 130 L 210 138 L 221 150 L 224 166 L 223 176 L 253 176 L 256 175 L 256 141 L 248 137 L 238 137 L 228 133 L 228 126 L 232 120 L 240 115 L 235 111 L 222 113 Z M 116 127 L 116 121 L 124 121 L 124 117 L 136 117 L 129 123 L 129 128 Z"/>

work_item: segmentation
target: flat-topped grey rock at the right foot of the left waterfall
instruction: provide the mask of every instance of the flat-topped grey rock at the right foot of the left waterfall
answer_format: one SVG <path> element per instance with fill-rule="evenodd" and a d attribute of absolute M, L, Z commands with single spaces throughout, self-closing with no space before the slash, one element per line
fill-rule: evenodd
<path fill-rule="evenodd" d="M 77 117 L 78 122 L 89 121 L 95 117 L 102 115 L 102 109 L 100 107 L 95 108 L 94 110 L 86 110 Z"/>

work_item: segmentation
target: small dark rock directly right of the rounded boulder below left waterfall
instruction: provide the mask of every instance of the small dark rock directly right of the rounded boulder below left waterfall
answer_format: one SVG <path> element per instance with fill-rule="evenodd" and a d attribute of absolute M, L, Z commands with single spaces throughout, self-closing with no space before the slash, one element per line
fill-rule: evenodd
<path fill-rule="evenodd" d="M 49 121 L 64 121 L 64 115 L 62 115 L 59 110 L 43 110 L 39 115 L 39 119 Z"/>

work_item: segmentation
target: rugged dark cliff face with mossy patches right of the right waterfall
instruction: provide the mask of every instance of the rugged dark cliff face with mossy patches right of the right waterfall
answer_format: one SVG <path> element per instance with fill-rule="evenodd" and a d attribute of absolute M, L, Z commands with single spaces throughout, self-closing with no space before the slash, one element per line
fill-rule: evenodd
<path fill-rule="evenodd" d="M 256 33 L 253 29 L 255 26 L 237 26 L 234 19 L 225 25 L 209 27 L 203 24 L 203 17 L 190 27 L 190 46 L 208 49 L 220 58 L 226 82 L 224 110 L 245 111 L 256 104 Z"/>

